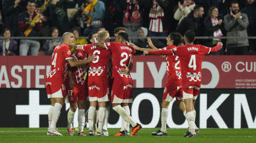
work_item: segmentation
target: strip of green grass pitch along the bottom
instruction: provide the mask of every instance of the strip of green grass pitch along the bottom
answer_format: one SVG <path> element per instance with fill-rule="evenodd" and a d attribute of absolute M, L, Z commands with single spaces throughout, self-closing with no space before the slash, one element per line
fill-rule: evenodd
<path fill-rule="evenodd" d="M 167 129 L 167 136 L 152 136 L 151 132 L 159 130 L 142 129 L 136 136 L 114 136 L 119 129 L 108 129 L 110 136 L 69 136 L 66 128 L 58 128 L 63 136 L 46 136 L 47 128 L 0 128 L 0 142 L 54 142 L 54 143 L 133 143 L 133 142 L 256 142 L 256 129 L 200 129 L 196 138 L 184 138 L 187 129 Z M 88 133 L 88 129 L 85 129 Z"/>

